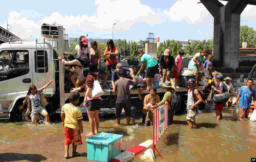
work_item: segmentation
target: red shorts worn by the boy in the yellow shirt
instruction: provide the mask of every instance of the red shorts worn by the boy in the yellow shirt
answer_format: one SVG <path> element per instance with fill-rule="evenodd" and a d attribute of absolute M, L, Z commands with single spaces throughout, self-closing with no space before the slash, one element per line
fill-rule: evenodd
<path fill-rule="evenodd" d="M 73 129 L 69 127 L 64 127 L 64 134 L 65 134 L 65 145 L 69 145 L 72 143 L 74 145 L 81 145 L 82 144 L 82 138 L 80 129 Z"/>

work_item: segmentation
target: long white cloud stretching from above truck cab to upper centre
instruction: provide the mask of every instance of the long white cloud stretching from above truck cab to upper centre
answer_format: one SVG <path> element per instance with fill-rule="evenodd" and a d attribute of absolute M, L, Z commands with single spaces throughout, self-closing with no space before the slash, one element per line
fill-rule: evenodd
<path fill-rule="evenodd" d="M 77 15 L 63 16 L 54 12 L 50 16 L 45 16 L 42 20 L 30 20 L 29 16 L 21 16 L 20 13 L 12 11 L 8 16 L 8 23 L 12 24 L 12 32 L 23 39 L 30 39 L 40 35 L 40 24 L 52 24 L 56 21 L 66 29 L 67 33 L 76 32 L 109 32 L 112 31 L 113 24 L 115 32 L 128 31 L 136 23 L 160 24 L 162 16 L 152 8 L 140 3 L 139 0 L 96 0 L 97 11 L 94 16 Z M 113 8 L 113 9 L 110 9 Z M 66 14 L 66 13 L 65 13 Z M 0 24 L 1 25 L 1 24 Z"/>

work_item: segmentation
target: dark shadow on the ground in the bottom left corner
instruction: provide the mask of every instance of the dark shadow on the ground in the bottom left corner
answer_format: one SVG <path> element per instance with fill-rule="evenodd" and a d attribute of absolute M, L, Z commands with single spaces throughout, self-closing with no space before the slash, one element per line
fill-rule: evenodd
<path fill-rule="evenodd" d="M 47 158 L 40 154 L 19 154 L 19 153 L 1 153 L 0 154 L 0 161 L 19 161 L 19 160 L 43 161 L 43 160 L 47 160 Z"/>

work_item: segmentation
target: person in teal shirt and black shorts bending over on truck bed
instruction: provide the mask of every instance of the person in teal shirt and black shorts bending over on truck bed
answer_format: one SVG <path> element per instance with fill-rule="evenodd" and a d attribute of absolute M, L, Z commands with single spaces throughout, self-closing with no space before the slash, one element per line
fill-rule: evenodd
<path fill-rule="evenodd" d="M 150 90 L 149 82 L 151 82 L 151 86 L 154 88 L 154 78 L 155 74 L 158 72 L 158 62 L 153 56 L 146 54 L 143 51 L 141 51 L 139 56 L 141 56 L 141 69 L 138 71 L 137 75 L 139 75 L 142 69 L 146 67 L 145 78 L 147 82 L 147 89 Z"/>

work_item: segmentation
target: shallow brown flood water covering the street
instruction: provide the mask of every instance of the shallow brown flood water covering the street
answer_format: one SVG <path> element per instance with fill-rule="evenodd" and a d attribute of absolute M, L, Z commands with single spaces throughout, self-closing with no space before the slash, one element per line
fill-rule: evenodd
<path fill-rule="evenodd" d="M 233 80 L 233 84 L 238 92 L 240 88 L 238 79 Z M 133 101 L 136 104 L 138 102 L 138 100 Z M 152 138 L 152 127 L 139 125 L 142 118 L 136 113 L 136 104 L 133 104 L 135 106 L 132 109 L 135 119 L 131 121 L 130 126 L 125 125 L 125 119 L 121 120 L 121 126 L 115 125 L 114 108 L 101 109 L 100 119 L 102 121 L 99 131 L 123 134 L 123 150 Z M 188 128 L 186 113 L 174 116 L 173 124 L 168 126 L 168 130 L 156 146 L 164 159 L 156 154 L 155 161 L 250 161 L 252 157 L 256 157 L 256 122 L 233 119 L 232 112 L 233 107 L 223 108 L 223 119 L 218 122 L 213 104 L 206 105 L 206 109 L 199 111 L 196 116 L 199 129 Z M 78 147 L 82 147 L 82 150 L 87 152 L 85 134 L 90 128 L 86 112 L 83 111 L 83 113 L 86 119 L 83 121 L 83 145 Z M 29 122 L 0 122 L 0 129 L 0 161 L 8 161 L 7 156 L 1 159 L 1 153 L 4 152 L 40 154 L 45 157 L 41 161 L 62 161 L 54 160 L 57 154 L 64 155 L 64 133 L 61 123 L 46 126 L 44 124 L 33 125 Z M 47 148 L 44 145 L 47 145 Z M 82 159 L 87 160 L 85 157 Z M 23 161 L 24 159 L 9 160 Z M 152 160 L 138 155 L 133 161 Z"/>

